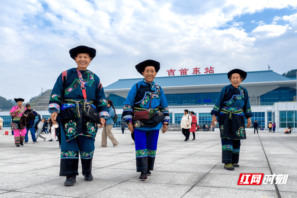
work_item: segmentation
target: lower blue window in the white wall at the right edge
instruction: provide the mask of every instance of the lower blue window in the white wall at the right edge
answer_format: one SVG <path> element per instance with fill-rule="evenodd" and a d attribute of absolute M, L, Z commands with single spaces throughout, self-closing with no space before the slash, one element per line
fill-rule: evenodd
<path fill-rule="evenodd" d="M 279 127 L 297 127 L 297 111 L 279 111 Z"/>

